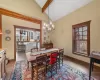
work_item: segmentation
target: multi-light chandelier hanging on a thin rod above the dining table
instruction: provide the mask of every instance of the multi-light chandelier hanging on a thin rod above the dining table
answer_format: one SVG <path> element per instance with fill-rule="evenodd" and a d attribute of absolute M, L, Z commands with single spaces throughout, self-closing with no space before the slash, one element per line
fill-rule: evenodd
<path fill-rule="evenodd" d="M 44 22 L 43 23 L 43 29 L 50 32 L 52 30 L 55 29 L 54 24 L 52 23 L 52 21 L 49 19 L 49 6 L 48 6 L 48 22 Z"/>

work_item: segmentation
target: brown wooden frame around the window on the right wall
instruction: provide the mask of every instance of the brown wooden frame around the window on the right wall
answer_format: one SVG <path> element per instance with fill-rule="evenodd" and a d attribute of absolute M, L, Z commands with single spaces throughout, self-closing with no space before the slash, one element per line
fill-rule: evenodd
<path fill-rule="evenodd" d="M 91 23 L 91 20 L 72 25 L 72 53 L 73 54 L 85 56 L 85 57 L 88 57 L 90 55 L 90 23 Z M 74 51 L 76 48 L 75 47 L 75 35 L 74 35 L 75 28 L 80 28 L 82 26 L 87 26 L 87 55 L 83 55 L 84 53 Z"/>

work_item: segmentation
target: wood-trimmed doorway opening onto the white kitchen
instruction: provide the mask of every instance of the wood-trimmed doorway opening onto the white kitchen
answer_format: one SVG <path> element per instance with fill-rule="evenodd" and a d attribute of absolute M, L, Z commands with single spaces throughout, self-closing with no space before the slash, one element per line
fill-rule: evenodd
<path fill-rule="evenodd" d="M 14 26 L 14 58 L 26 60 L 26 53 L 32 48 L 40 48 L 40 29 Z"/>

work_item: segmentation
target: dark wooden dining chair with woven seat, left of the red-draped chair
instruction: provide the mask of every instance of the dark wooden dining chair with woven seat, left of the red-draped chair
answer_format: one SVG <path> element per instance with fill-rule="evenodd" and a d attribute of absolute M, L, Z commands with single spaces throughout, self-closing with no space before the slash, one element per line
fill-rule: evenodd
<path fill-rule="evenodd" d="M 36 57 L 36 65 L 34 66 L 34 78 L 35 80 L 46 79 L 46 60 L 47 55 L 43 54 Z"/>

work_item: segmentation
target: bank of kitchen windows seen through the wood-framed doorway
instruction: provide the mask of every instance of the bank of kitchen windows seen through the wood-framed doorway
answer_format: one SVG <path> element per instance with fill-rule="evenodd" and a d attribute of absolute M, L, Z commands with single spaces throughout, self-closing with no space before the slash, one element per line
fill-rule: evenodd
<path fill-rule="evenodd" d="M 16 28 L 16 41 L 39 41 L 40 40 L 40 30 L 30 30 L 30 29 L 20 29 Z"/>

